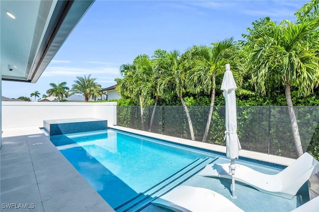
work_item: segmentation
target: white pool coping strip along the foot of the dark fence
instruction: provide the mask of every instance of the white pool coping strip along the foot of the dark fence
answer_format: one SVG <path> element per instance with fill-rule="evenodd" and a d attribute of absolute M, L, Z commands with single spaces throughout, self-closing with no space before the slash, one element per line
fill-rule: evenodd
<path fill-rule="evenodd" d="M 122 127 L 122 126 L 109 126 L 109 128 L 113 129 L 118 129 L 126 132 L 131 132 L 131 133 L 136 133 L 156 139 L 162 139 L 162 140 L 167 140 L 173 143 L 178 143 L 178 144 L 183 144 L 187 146 L 192 146 L 192 147 L 197 147 L 197 148 L 202 148 L 202 149 L 207 149 L 211 151 L 216 151 L 220 153 L 226 153 L 226 147 L 225 146 L 220 146 L 216 144 L 210 144 L 210 143 L 203 143 L 200 141 L 192 141 L 184 138 L 178 138 L 178 137 L 172 137 L 168 135 L 162 135 L 154 132 L 146 132 L 143 130 L 138 130 L 138 129 L 132 129 L 132 128 L 127 128 L 127 127 Z M 245 157 L 245 158 L 250 158 L 250 159 L 255 159 L 259 161 L 264 161 L 264 162 L 269 162 L 269 163 L 274 163 L 274 164 L 279 164 L 283 166 L 289 166 L 292 164 L 296 159 L 293 158 L 286 158 L 286 157 L 281 157 L 277 155 L 269 155 L 265 153 L 260 153 L 260 152 L 253 152 L 253 151 L 248 151 L 248 150 L 240 150 L 239 151 L 239 158 Z"/>

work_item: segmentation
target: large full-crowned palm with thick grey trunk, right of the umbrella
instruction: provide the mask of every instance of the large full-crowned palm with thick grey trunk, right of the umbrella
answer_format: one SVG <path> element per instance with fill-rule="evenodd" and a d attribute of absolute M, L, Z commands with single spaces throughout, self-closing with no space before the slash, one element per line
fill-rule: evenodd
<path fill-rule="evenodd" d="M 285 96 L 298 156 L 303 154 L 298 123 L 291 98 L 291 87 L 299 96 L 307 96 L 319 84 L 319 58 L 312 43 L 319 19 L 292 23 L 283 20 L 279 25 L 262 19 L 249 29 L 247 46 L 251 50 L 252 83 L 256 90 L 266 94 L 265 85 L 274 81 L 285 85 Z M 313 42 L 312 42 L 313 41 Z"/>

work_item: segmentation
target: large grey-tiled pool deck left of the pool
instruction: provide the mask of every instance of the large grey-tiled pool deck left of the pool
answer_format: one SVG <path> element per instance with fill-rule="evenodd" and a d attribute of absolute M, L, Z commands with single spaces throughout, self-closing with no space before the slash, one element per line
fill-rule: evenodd
<path fill-rule="evenodd" d="M 2 140 L 1 212 L 114 211 L 38 127 L 4 129 Z"/>

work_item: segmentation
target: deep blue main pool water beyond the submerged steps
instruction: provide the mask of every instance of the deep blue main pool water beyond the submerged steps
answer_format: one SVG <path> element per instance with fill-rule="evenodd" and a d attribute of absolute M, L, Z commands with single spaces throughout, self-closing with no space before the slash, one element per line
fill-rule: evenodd
<path fill-rule="evenodd" d="M 197 160 L 217 158 L 112 129 L 50 136 L 50 140 L 113 208 Z"/>

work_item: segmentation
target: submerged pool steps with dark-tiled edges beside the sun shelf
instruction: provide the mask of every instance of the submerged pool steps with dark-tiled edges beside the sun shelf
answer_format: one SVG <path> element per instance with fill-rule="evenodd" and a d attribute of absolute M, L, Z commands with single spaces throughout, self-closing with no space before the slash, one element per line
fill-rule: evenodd
<path fill-rule="evenodd" d="M 114 210 L 117 212 L 137 212 L 143 210 L 151 204 L 155 197 L 160 197 L 161 195 L 167 193 L 176 186 L 182 184 L 187 179 L 198 173 L 207 164 L 212 163 L 216 159 L 218 159 L 218 157 L 207 157 L 204 159 L 198 158 L 186 167 L 184 167 L 183 169 L 180 169 L 179 171 L 167 177 L 157 185 L 139 194 L 135 198 L 132 198 L 131 200 L 115 208 Z"/>

